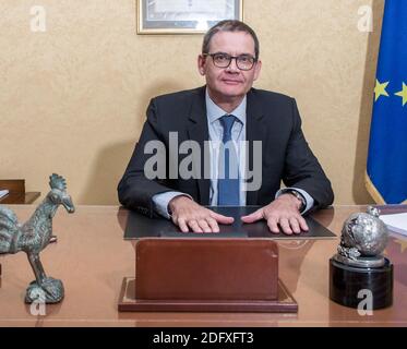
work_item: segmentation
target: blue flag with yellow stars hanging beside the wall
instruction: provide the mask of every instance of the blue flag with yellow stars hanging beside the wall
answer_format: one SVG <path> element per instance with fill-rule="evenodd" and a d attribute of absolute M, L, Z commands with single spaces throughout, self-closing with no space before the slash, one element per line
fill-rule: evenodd
<path fill-rule="evenodd" d="M 407 204 L 406 0 L 384 7 L 366 179 L 376 203 Z"/>

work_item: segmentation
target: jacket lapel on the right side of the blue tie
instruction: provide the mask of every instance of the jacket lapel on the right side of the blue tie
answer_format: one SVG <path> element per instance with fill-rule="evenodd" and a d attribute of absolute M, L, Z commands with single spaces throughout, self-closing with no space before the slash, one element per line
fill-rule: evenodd
<path fill-rule="evenodd" d="M 265 128 L 262 123 L 263 111 L 261 105 L 255 96 L 255 89 L 251 89 L 248 93 L 248 104 L 247 104 L 247 120 L 246 120 L 246 140 L 249 142 L 248 153 L 249 156 L 249 169 L 253 170 L 253 141 L 265 140 Z M 263 148 L 263 147 L 262 147 Z M 264 148 L 263 148 L 264 151 Z M 263 157 L 262 154 L 262 168 L 263 168 Z M 247 169 L 248 171 L 248 169 Z M 259 176 L 259 173 L 258 173 Z M 248 177 L 247 177 L 248 178 Z M 258 204 L 259 191 L 248 191 L 246 196 L 247 205 Z"/>

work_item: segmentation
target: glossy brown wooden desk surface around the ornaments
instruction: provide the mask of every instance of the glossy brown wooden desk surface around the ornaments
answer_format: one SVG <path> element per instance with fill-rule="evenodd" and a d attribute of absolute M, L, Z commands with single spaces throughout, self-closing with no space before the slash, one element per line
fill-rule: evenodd
<path fill-rule="evenodd" d="M 35 206 L 11 206 L 27 219 Z M 390 207 L 407 212 L 407 206 Z M 314 217 L 339 234 L 343 221 L 362 206 L 337 206 Z M 394 305 L 360 316 L 328 299 L 328 260 L 335 240 L 279 241 L 279 276 L 299 304 L 298 314 L 119 313 L 123 276 L 134 275 L 134 246 L 123 241 L 128 212 L 116 206 L 79 206 L 73 215 L 59 208 L 58 243 L 41 253 L 46 273 L 61 278 L 65 299 L 33 316 L 23 302 L 33 280 L 24 253 L 2 257 L 0 326 L 407 326 L 407 238 L 392 237 L 386 249 L 394 264 Z"/>

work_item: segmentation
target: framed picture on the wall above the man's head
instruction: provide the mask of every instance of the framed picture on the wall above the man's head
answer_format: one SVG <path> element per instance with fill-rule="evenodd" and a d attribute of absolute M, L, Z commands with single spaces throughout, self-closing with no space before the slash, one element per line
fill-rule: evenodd
<path fill-rule="evenodd" d="M 243 20 L 243 0 L 137 0 L 139 34 L 202 34 L 223 20 Z"/>

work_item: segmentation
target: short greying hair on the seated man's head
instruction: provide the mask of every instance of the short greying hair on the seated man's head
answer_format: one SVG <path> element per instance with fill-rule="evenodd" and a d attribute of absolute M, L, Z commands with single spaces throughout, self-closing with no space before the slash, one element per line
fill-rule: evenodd
<path fill-rule="evenodd" d="M 210 45 L 212 37 L 219 32 L 244 32 L 250 34 L 250 36 L 254 40 L 254 57 L 258 60 L 260 48 L 259 48 L 259 39 L 255 35 L 254 31 L 243 22 L 237 20 L 225 20 L 220 21 L 219 23 L 215 24 L 211 29 L 208 29 L 204 36 L 203 44 L 202 44 L 202 53 L 210 53 Z"/>

